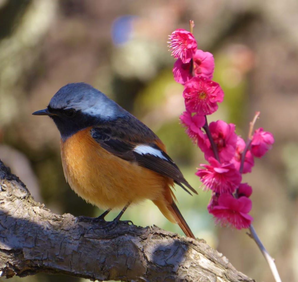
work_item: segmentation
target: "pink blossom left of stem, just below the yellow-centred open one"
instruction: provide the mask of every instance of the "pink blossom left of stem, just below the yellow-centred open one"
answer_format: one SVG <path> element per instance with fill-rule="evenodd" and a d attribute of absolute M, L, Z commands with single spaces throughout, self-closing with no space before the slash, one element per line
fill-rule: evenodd
<path fill-rule="evenodd" d="M 186 127 L 187 135 L 196 141 L 198 137 L 203 137 L 201 127 L 205 124 L 205 116 L 193 115 L 190 112 L 183 112 L 180 116 L 181 123 Z"/>

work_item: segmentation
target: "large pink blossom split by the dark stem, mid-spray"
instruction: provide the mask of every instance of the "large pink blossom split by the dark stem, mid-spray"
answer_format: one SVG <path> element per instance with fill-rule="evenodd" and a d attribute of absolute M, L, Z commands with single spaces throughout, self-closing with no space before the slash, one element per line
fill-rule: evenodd
<path fill-rule="evenodd" d="M 235 125 L 218 120 L 209 124 L 209 130 L 217 147 L 220 161 L 228 163 L 236 152 L 237 134 L 235 133 Z M 204 134 L 204 142 L 198 142 L 198 146 L 204 152 L 206 160 L 209 157 L 214 157 L 210 140 L 206 134 Z"/>

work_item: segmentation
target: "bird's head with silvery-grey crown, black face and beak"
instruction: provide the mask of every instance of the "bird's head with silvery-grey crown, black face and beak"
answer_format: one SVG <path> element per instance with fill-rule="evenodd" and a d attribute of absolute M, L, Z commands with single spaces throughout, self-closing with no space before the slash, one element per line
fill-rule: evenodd
<path fill-rule="evenodd" d="M 49 116 L 65 141 L 77 131 L 124 116 L 126 111 L 91 85 L 79 82 L 63 86 L 46 109 L 33 115 Z"/>

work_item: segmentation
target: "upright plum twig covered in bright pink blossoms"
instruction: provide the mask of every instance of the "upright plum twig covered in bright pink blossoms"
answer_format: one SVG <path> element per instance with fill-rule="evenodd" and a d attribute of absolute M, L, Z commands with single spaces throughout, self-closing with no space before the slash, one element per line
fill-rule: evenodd
<path fill-rule="evenodd" d="M 218 120 L 208 125 L 207 115 L 217 111 L 218 103 L 224 99 L 224 92 L 217 82 L 212 81 L 213 55 L 198 49 L 192 34 L 193 26 L 193 21 L 190 21 L 190 31 L 173 31 L 168 43 L 172 56 L 177 59 L 173 67 L 174 79 L 184 86 L 182 95 L 186 111 L 181 114 L 180 121 L 208 162 L 200 164 L 201 168 L 196 172 L 203 189 L 212 190 L 208 212 L 214 216 L 215 223 L 236 229 L 248 228 L 249 235 L 268 261 L 275 280 L 281 282 L 274 260 L 252 226 L 253 218 L 249 215 L 252 187 L 242 183 L 242 174 L 252 171 L 254 157 L 263 157 L 271 149 L 274 137 L 263 128 L 252 134 L 260 112 L 250 123 L 246 142 L 235 133 L 235 124 Z"/>

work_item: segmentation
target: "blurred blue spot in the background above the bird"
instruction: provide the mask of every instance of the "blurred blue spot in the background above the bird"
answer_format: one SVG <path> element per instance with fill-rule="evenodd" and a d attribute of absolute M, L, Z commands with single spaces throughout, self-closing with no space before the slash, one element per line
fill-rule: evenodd
<path fill-rule="evenodd" d="M 125 15 L 117 18 L 112 26 L 112 39 L 114 44 L 124 44 L 130 39 L 133 29 L 132 21 L 136 16 Z"/>

